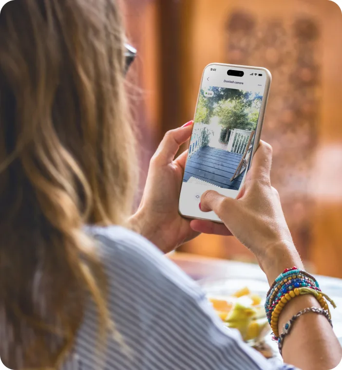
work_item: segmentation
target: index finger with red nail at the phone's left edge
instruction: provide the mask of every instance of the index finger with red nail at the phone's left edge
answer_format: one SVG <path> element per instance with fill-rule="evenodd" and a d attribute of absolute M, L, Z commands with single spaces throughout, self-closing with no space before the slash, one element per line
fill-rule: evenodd
<path fill-rule="evenodd" d="M 162 142 L 160 143 L 157 151 L 152 157 L 153 162 L 157 162 L 158 165 L 168 165 L 173 161 L 179 147 L 190 139 L 193 122 L 187 126 L 180 127 L 168 131 Z"/>

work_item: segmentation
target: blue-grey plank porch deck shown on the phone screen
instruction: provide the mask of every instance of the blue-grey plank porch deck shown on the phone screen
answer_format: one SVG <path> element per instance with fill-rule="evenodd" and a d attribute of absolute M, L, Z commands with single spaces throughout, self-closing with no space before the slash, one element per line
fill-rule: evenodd
<path fill-rule="evenodd" d="M 245 172 L 233 182 L 230 182 L 230 179 L 234 175 L 241 158 L 242 154 L 231 153 L 222 149 L 200 148 L 188 159 L 184 181 L 187 182 L 190 177 L 196 177 L 225 189 L 238 190 Z"/>

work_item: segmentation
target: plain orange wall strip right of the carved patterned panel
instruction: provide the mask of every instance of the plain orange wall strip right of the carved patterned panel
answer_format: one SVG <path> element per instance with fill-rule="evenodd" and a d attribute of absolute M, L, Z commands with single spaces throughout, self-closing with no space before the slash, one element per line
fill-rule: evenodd
<path fill-rule="evenodd" d="M 309 257 L 320 274 L 342 277 L 342 14 L 334 2 L 321 2 L 323 104 L 311 185 L 315 212 Z"/>

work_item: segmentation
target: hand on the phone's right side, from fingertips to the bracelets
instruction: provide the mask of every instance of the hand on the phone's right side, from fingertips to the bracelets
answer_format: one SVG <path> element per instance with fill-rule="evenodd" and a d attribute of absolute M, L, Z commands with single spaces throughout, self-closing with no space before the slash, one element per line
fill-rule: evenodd
<path fill-rule="evenodd" d="M 285 268 L 303 268 L 285 221 L 279 194 L 271 186 L 272 148 L 261 141 L 236 199 L 209 190 L 202 195 L 201 210 L 214 211 L 224 224 L 193 220 L 193 230 L 227 235 L 227 228 L 249 248 L 273 280 Z"/>

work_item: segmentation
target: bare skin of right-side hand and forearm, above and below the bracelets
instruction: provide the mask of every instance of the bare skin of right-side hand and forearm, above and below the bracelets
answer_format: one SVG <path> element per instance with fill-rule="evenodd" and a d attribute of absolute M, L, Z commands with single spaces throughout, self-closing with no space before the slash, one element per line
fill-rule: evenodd
<path fill-rule="evenodd" d="M 226 198 L 215 191 L 202 195 L 201 209 L 213 210 L 224 224 L 200 220 L 190 224 L 194 230 L 204 233 L 227 235 L 228 228 L 255 254 L 270 284 L 285 268 L 304 268 L 287 227 L 278 192 L 271 186 L 271 162 L 272 148 L 261 142 L 237 199 Z M 307 307 L 320 305 L 310 295 L 288 302 L 279 316 L 279 330 Z M 332 369 L 341 361 L 341 355 L 341 346 L 329 322 L 322 315 L 312 313 L 296 322 L 283 348 L 284 361 L 303 370 Z"/>

